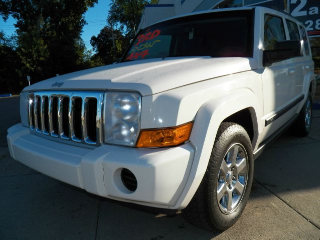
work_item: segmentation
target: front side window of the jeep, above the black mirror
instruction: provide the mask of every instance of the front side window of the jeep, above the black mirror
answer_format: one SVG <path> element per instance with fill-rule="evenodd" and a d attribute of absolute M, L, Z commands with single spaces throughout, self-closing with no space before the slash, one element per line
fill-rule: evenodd
<path fill-rule="evenodd" d="M 264 49 L 274 50 L 275 43 L 284 40 L 282 18 L 266 14 L 264 16 Z"/>

